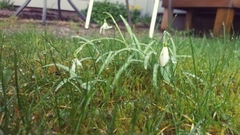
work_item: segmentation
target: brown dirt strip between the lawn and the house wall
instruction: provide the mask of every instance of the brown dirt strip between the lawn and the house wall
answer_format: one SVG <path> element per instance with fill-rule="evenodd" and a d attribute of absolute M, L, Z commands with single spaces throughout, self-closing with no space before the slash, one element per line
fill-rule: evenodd
<path fill-rule="evenodd" d="M 7 22 L 10 25 L 8 28 L 0 28 L 5 31 L 11 32 L 25 28 L 26 24 L 33 24 L 39 31 L 47 30 L 55 34 L 56 36 L 111 36 L 117 33 L 116 28 L 110 29 L 105 35 L 99 33 L 100 26 L 96 24 L 90 24 L 89 29 L 84 28 L 84 22 L 76 15 L 76 13 L 69 11 L 62 11 L 62 18 L 58 18 L 58 13 L 55 10 L 47 12 L 46 24 L 43 25 L 41 21 L 42 10 L 38 8 L 25 8 L 17 17 L 13 17 L 15 11 L 10 10 L 0 10 L 0 21 Z M 125 26 L 119 24 L 123 33 L 126 32 Z M 136 35 L 148 35 L 148 27 L 138 27 L 133 28 L 133 32 Z M 157 36 L 161 36 L 161 31 L 155 31 Z"/>

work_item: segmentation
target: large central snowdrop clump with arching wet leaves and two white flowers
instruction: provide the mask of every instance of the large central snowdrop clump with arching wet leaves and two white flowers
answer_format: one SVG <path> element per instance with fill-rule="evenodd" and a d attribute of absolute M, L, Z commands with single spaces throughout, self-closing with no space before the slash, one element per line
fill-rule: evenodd
<path fill-rule="evenodd" d="M 131 67 L 133 64 L 140 64 L 143 65 L 145 69 L 147 68 L 153 68 L 153 85 L 158 88 L 157 82 L 158 82 L 158 77 L 159 74 L 163 77 L 163 79 L 170 83 L 171 82 L 171 77 L 173 76 L 173 69 L 175 68 L 176 65 L 176 49 L 175 49 L 175 44 L 172 39 L 172 36 L 170 33 L 167 31 L 164 31 L 163 33 L 163 48 L 160 53 L 160 58 L 157 55 L 157 51 L 154 49 L 156 44 L 155 40 L 152 40 L 150 43 L 145 44 L 139 42 L 138 38 L 136 35 L 133 33 L 131 27 L 127 23 L 127 21 L 120 15 L 123 23 L 126 26 L 126 30 L 130 35 L 130 42 L 129 40 L 126 40 L 125 37 L 123 36 L 118 24 L 114 20 L 114 18 L 111 16 L 111 14 L 104 12 L 107 15 L 109 15 L 109 18 L 113 20 L 113 23 L 115 24 L 115 27 L 117 31 L 119 32 L 121 38 L 111 38 L 111 37 L 104 37 L 104 38 L 98 38 L 98 39 L 93 39 L 93 40 L 86 40 L 83 39 L 82 37 L 77 37 L 79 40 L 82 40 L 84 42 L 81 42 L 81 46 L 75 50 L 74 57 L 77 58 L 79 57 L 78 55 L 82 54 L 82 51 L 86 46 L 91 47 L 95 52 L 97 52 L 95 63 L 100 64 L 100 69 L 98 71 L 98 74 L 95 76 L 96 78 L 101 78 L 101 74 L 103 71 L 105 71 L 106 68 L 109 67 L 109 64 L 112 63 L 115 60 L 116 56 L 119 55 L 125 55 L 126 53 L 128 54 L 127 56 L 125 55 L 125 63 L 118 69 L 116 72 L 115 77 L 113 78 L 111 84 L 112 86 L 115 86 L 118 80 L 121 78 L 122 74 L 127 71 L 128 68 Z M 104 19 L 104 24 L 100 28 L 100 33 L 104 33 L 106 29 L 110 29 L 112 26 L 109 26 L 106 22 L 106 18 Z M 76 38 L 76 37 L 75 37 Z M 125 45 L 125 48 L 121 48 L 119 50 L 111 50 L 108 52 L 105 52 L 103 54 L 99 54 L 99 49 L 95 46 L 95 42 L 97 41 L 104 41 L 104 40 L 114 40 L 114 42 L 119 42 L 123 45 Z M 156 46 L 155 46 L 156 47 Z M 82 57 L 82 56 L 81 56 Z M 155 61 L 159 58 L 160 60 Z M 169 60 L 171 60 L 171 64 L 169 64 Z M 152 65 L 153 64 L 153 65 Z M 160 69 L 160 71 L 159 71 Z"/>

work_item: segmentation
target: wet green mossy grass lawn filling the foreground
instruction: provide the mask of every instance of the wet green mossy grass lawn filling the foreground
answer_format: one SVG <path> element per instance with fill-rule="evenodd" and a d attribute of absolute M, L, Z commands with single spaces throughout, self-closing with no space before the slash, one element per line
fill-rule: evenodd
<path fill-rule="evenodd" d="M 0 134 L 240 134 L 239 37 L 127 32 L 2 30 Z"/>

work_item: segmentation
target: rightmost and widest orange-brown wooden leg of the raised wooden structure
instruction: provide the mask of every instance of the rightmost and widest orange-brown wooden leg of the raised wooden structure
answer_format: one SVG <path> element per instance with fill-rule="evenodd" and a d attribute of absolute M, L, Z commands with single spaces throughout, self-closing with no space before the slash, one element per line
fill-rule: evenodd
<path fill-rule="evenodd" d="M 213 28 L 214 35 L 221 35 L 224 30 L 226 33 L 230 33 L 231 26 L 234 18 L 233 8 L 218 8 Z"/>

